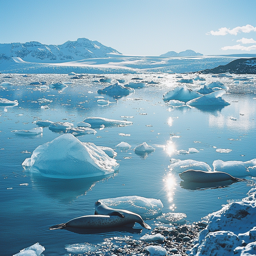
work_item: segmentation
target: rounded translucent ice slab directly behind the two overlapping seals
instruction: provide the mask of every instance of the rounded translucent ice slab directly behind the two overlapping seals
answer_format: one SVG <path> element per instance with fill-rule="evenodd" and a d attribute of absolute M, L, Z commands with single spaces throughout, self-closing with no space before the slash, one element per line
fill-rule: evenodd
<path fill-rule="evenodd" d="M 121 196 L 116 198 L 101 199 L 100 202 L 115 209 L 125 209 L 139 214 L 144 220 L 153 219 L 162 214 L 163 204 L 160 199 L 141 196 Z"/>

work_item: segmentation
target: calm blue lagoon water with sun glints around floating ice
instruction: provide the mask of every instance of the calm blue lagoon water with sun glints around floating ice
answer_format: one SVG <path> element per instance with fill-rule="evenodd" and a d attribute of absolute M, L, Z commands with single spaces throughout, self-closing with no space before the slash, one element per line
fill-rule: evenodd
<path fill-rule="evenodd" d="M 188 222 L 194 222 L 219 210 L 223 204 L 241 200 L 255 185 L 254 177 L 244 177 L 247 179 L 244 182 L 197 189 L 183 187 L 178 173 L 168 174 L 171 158 L 203 161 L 211 167 L 217 159 L 248 161 L 256 158 L 256 77 L 250 84 L 243 81 L 238 84 L 233 83 L 233 79 L 202 75 L 206 84 L 220 80 L 229 86 L 228 93 L 222 98 L 231 105 L 222 109 L 198 109 L 187 106 L 173 108 L 163 101 L 163 94 L 179 85 L 177 74 L 141 74 L 139 77 L 143 81 L 153 80 L 158 84 L 147 84 L 147 87 L 135 89 L 135 93 L 124 97 L 98 94 L 98 89 L 109 85 L 93 82 L 99 80 L 100 75 L 87 75 L 82 79 L 57 74 L 9 75 L 12 78 L 3 78 L 6 74 L 1 74 L 1 80 L 13 85 L 2 86 L 0 98 L 17 99 L 19 105 L 0 108 L 1 255 L 18 253 L 36 242 L 45 246 L 46 256 L 65 255 L 67 244 L 97 244 L 114 236 L 138 239 L 148 232 L 143 229 L 140 234 L 125 231 L 77 234 L 67 230 L 48 230 L 49 226 L 94 214 L 94 203 L 99 199 L 132 195 L 161 199 L 163 212 L 183 212 Z M 132 78 L 136 76 L 111 74 L 105 78 L 112 78 L 113 82 L 115 79 L 134 82 Z M 194 76 L 190 74 L 184 78 Z M 39 86 L 30 85 L 40 81 L 62 81 L 68 83 L 68 87 L 58 91 L 40 90 Z M 202 81 L 194 81 L 188 87 L 195 88 L 199 82 Z M 112 103 L 99 105 L 98 97 Z M 52 102 L 39 103 L 38 99 L 42 98 Z M 49 106 L 49 109 L 41 106 Z M 70 122 L 76 127 L 77 122 L 93 116 L 133 122 L 126 127 L 96 129 L 96 135 L 77 137 L 82 142 L 113 148 L 120 164 L 116 173 L 110 177 L 60 180 L 23 169 L 22 162 L 37 146 L 63 133 L 52 132 L 45 127 L 42 135 L 21 136 L 12 130 L 35 128 L 37 125 L 33 121 L 38 119 Z M 122 141 L 132 145 L 131 149 L 117 148 L 116 145 Z M 133 148 L 143 142 L 156 150 L 146 156 L 136 155 Z M 199 153 L 177 153 L 177 150 L 191 147 Z M 219 148 L 232 151 L 219 153 L 216 151 Z M 146 222 L 153 228 L 157 225 L 154 219 Z"/>

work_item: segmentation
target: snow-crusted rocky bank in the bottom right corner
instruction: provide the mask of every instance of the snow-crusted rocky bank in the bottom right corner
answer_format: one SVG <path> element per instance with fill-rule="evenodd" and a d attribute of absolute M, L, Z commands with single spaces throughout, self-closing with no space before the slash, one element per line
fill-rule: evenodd
<path fill-rule="evenodd" d="M 255 256 L 256 248 L 256 189 L 248 192 L 242 202 L 226 204 L 209 214 L 206 229 L 199 234 L 188 255 Z"/>

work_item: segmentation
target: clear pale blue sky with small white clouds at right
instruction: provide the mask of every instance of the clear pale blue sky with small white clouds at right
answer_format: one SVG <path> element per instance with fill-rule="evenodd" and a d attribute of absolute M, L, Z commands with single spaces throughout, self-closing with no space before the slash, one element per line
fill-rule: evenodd
<path fill-rule="evenodd" d="M 0 0 L 0 44 L 88 38 L 128 55 L 256 53 L 256 0 Z"/>

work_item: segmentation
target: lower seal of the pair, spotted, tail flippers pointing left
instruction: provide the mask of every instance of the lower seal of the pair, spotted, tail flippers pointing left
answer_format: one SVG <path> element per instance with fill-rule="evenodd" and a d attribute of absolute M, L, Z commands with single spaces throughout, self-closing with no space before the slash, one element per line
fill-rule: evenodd
<path fill-rule="evenodd" d="M 138 215 L 139 216 L 139 215 Z M 134 225 L 140 219 L 135 215 L 126 215 L 124 218 L 116 215 L 85 215 L 71 219 L 66 223 L 50 226 L 49 230 L 76 228 L 76 229 L 108 229 L 125 225 Z M 143 222 L 143 220 L 142 220 Z M 144 223 L 144 222 L 143 222 Z M 145 227 L 151 229 L 146 223 Z"/>

